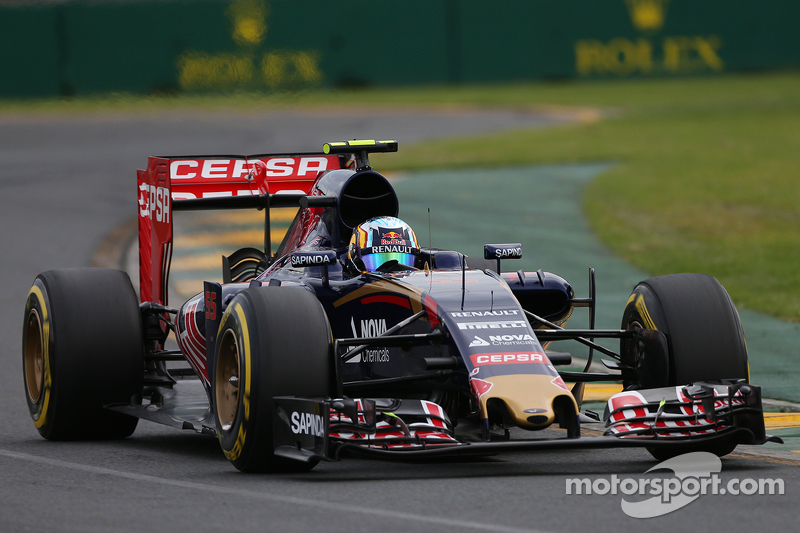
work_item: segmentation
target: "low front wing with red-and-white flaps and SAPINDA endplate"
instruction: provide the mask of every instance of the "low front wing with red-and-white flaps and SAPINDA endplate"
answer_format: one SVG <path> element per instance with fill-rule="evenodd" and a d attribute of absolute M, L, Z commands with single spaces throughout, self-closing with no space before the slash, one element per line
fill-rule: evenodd
<path fill-rule="evenodd" d="M 613 396 L 603 436 L 474 441 L 425 400 L 274 398 L 275 454 L 309 461 L 344 452 L 384 458 L 499 452 L 781 442 L 764 429 L 761 389 L 745 383 L 626 391 Z"/>

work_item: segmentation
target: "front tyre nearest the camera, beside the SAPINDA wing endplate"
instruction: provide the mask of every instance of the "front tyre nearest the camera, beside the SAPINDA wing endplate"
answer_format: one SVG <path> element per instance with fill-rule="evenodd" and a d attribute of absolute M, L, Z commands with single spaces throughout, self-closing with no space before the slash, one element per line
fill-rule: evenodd
<path fill-rule="evenodd" d="M 318 461 L 273 454 L 273 396 L 329 397 L 333 344 L 316 297 L 301 288 L 239 293 L 223 314 L 211 397 L 225 457 L 242 472 L 304 471 Z"/>

